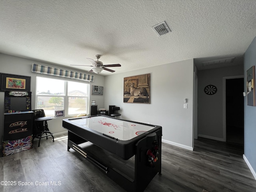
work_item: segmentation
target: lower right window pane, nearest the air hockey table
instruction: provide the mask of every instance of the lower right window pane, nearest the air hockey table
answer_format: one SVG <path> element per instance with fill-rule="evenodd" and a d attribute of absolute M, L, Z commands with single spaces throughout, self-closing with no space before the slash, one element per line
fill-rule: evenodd
<path fill-rule="evenodd" d="M 68 97 L 68 114 L 86 113 L 87 98 L 85 97 Z"/>

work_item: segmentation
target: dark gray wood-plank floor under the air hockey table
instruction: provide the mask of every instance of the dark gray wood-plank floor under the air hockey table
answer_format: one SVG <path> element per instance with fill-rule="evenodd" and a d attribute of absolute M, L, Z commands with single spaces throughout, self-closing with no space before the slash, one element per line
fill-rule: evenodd
<path fill-rule="evenodd" d="M 68 152 L 66 135 L 54 140 L 43 139 L 40 147 L 35 141 L 31 150 L 0 158 L 0 181 L 16 182 L 1 185 L 0 191 L 124 192 L 77 152 Z M 256 191 L 256 180 L 242 158 L 242 145 L 205 138 L 194 143 L 194 151 L 162 143 L 162 175 L 157 174 L 145 192 Z M 130 160 L 122 163 L 126 170 L 133 165 Z M 21 182 L 33 185 L 21 186 Z"/>

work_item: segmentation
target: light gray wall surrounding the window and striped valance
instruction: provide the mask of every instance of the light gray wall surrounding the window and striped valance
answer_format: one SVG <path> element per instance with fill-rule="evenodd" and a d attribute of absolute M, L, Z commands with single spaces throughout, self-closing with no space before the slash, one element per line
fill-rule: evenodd
<path fill-rule="evenodd" d="M 64 70 L 71 70 L 71 71 L 86 73 L 84 71 L 74 70 L 72 68 L 64 68 L 62 66 L 56 66 L 54 64 L 48 64 L 48 63 L 43 63 L 35 60 L 24 59 L 24 58 L 10 56 L 6 54 L 0 54 L 0 64 L 1 64 L 0 72 L 1 73 L 31 76 L 32 110 L 35 109 L 36 76 L 71 80 L 69 78 L 55 77 L 55 76 L 49 76 L 46 74 L 38 74 L 38 73 L 31 72 L 33 63 L 42 64 L 50 67 L 61 68 Z M 95 76 L 95 80 L 94 82 L 91 82 L 90 89 L 92 88 L 92 85 L 104 86 L 104 76 L 100 76 L 97 74 L 93 74 L 93 75 Z M 84 82 L 84 81 L 78 81 L 78 82 Z M 98 104 L 98 108 L 104 107 L 104 96 L 90 95 L 89 104 L 91 104 L 92 100 L 96 100 L 96 104 Z M 65 116 L 64 118 L 70 118 L 70 117 Z M 53 120 L 48 122 L 48 126 L 52 133 L 61 134 L 63 132 L 66 132 L 66 130 L 62 128 L 62 119 L 64 118 L 54 118 Z M 0 124 L 1 124 L 1 127 L 3 128 L 4 126 L 4 92 L 0 92 Z M 0 129 L 0 138 L 2 138 L 2 132 L 3 132 L 2 128 Z"/>

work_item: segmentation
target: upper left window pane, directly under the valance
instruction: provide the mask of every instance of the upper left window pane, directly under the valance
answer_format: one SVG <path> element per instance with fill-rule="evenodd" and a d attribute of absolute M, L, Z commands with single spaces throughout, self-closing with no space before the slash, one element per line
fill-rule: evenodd
<path fill-rule="evenodd" d="M 36 78 L 37 95 L 65 95 L 65 81 L 51 78 Z"/>

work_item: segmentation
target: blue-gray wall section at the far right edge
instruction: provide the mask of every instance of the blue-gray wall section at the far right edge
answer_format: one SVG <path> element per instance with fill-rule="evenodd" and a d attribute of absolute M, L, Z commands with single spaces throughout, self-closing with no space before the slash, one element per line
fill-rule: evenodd
<path fill-rule="evenodd" d="M 246 71 L 255 65 L 256 38 L 244 54 L 244 91 L 246 91 Z M 256 178 L 256 107 L 248 106 L 246 97 L 244 97 L 244 159 Z"/>

